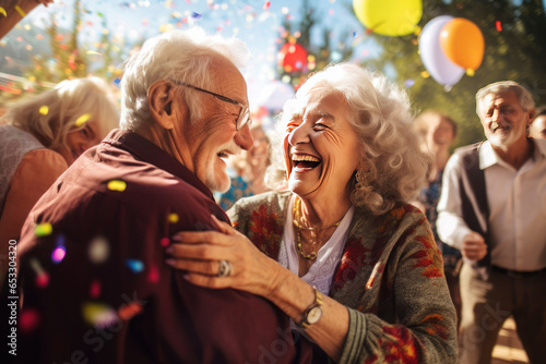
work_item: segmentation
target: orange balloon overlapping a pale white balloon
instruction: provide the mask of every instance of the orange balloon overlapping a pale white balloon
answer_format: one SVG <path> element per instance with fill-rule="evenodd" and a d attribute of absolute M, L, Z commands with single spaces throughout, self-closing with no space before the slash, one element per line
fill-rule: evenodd
<path fill-rule="evenodd" d="M 484 59 L 484 35 L 464 17 L 455 17 L 442 27 L 440 47 L 453 63 L 465 70 L 477 70 Z"/>

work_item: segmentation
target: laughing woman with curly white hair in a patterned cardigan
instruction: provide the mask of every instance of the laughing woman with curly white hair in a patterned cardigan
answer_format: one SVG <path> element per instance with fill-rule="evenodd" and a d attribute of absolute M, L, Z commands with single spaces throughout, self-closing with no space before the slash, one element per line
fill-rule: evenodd
<path fill-rule="evenodd" d="M 407 204 L 429 165 L 408 107 L 357 65 L 314 74 L 283 113 L 289 191 L 235 204 L 239 232 L 178 233 L 168 263 L 194 284 L 268 298 L 335 362 L 454 363 L 441 256 Z"/>

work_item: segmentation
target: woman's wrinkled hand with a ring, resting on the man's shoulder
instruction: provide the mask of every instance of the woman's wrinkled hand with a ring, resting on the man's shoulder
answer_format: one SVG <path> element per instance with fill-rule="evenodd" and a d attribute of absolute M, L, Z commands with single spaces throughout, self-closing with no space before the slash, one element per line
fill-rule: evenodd
<path fill-rule="evenodd" d="M 182 231 L 173 236 L 166 250 L 171 255 L 167 264 L 185 270 L 185 278 L 197 286 L 234 288 L 268 296 L 281 266 L 228 223 L 212 218 L 219 231 Z M 232 264 L 228 277 L 217 277 L 219 260 Z"/>

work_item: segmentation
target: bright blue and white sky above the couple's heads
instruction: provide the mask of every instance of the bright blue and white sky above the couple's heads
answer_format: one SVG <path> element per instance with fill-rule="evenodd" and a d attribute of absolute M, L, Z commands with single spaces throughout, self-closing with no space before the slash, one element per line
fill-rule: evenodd
<path fill-rule="evenodd" d="M 309 0 L 318 14 L 321 27 L 332 29 L 331 38 L 340 39 L 343 33 L 357 49 L 355 58 L 361 60 L 373 57 L 377 46 L 365 28 L 353 15 L 352 0 Z M 80 43 L 88 46 L 92 57 L 99 60 L 102 49 L 99 39 L 107 32 L 118 45 L 134 44 L 170 28 L 186 28 L 199 25 L 209 33 L 221 33 L 244 40 L 251 53 L 251 66 L 244 70 L 249 85 L 252 104 L 263 98 L 264 86 L 276 77 L 277 50 L 285 39 L 282 23 L 285 19 L 294 24 L 300 20 L 302 0 L 165 0 L 165 1 L 103 1 L 83 0 L 82 28 Z M 16 32 L 8 34 L 0 43 L 2 47 L 17 46 L 20 58 L 28 58 L 45 49 L 47 45 L 40 35 L 55 13 L 60 26 L 70 27 L 73 0 L 56 0 L 47 9 L 38 7 L 19 25 Z M 106 23 L 106 26 L 103 24 Z M 320 29 L 316 29 L 321 39 Z M 46 47 L 47 49 L 47 47 Z M 129 51 L 129 49 L 127 50 Z M 333 53 L 335 57 L 335 52 Z M 0 63 L 0 72 L 17 73 L 17 61 Z"/>

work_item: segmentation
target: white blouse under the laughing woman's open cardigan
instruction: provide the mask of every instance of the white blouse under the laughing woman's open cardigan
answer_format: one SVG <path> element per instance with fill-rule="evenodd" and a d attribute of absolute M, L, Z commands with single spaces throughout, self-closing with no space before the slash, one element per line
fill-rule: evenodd
<path fill-rule="evenodd" d="M 299 276 L 299 258 L 296 251 L 294 217 L 292 215 L 295 201 L 296 195 L 293 195 L 288 204 L 283 241 L 281 242 L 281 251 L 278 252 L 278 263 L 293 274 Z M 355 207 L 351 206 L 332 236 L 330 236 L 330 240 L 317 252 L 314 264 L 304 277 L 300 277 L 307 283 L 314 286 L 322 294 L 328 295 L 330 292 L 330 286 L 332 284 L 335 268 L 343 255 L 343 248 L 348 235 L 348 227 L 353 220 L 354 213 Z"/>

